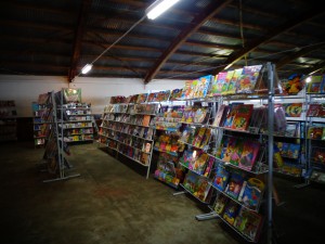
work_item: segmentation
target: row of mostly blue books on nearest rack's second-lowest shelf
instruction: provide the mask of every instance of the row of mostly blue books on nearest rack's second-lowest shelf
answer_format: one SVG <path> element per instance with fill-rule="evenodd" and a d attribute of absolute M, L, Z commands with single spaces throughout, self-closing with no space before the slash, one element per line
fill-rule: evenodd
<path fill-rule="evenodd" d="M 265 189 L 260 179 L 237 169 L 230 170 L 223 164 L 218 164 L 212 185 L 252 210 L 259 209 Z"/>

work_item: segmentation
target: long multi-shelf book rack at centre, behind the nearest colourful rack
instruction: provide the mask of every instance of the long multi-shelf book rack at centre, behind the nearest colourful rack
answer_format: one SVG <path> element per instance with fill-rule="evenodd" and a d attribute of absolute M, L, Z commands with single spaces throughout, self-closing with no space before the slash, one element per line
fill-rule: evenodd
<path fill-rule="evenodd" d="M 158 104 L 128 102 L 105 107 L 99 142 L 115 151 L 116 156 L 123 155 L 147 167 L 147 179 L 154 142 L 154 129 L 150 128 L 150 123 L 156 116 Z"/>

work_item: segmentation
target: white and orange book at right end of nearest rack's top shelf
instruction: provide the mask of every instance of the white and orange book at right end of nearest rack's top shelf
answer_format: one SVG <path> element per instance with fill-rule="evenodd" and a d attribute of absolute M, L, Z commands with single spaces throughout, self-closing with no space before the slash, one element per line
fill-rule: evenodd
<path fill-rule="evenodd" d="M 237 93 L 252 93 L 262 65 L 245 66 L 237 81 Z"/>

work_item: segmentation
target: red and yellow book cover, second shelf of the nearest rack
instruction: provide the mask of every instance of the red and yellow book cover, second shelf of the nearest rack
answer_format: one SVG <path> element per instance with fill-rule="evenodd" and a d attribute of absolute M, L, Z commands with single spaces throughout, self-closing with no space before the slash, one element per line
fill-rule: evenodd
<path fill-rule="evenodd" d="M 247 130 L 251 114 L 252 114 L 252 104 L 240 104 L 237 107 L 237 113 L 235 114 L 232 124 L 232 129 Z"/>

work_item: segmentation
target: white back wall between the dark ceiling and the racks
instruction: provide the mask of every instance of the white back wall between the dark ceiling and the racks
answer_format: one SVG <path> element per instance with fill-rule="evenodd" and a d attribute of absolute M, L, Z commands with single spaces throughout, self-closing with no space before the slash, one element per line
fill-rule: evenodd
<path fill-rule="evenodd" d="M 109 97 L 183 88 L 184 80 L 152 80 L 144 86 L 142 79 L 77 77 L 69 84 L 66 77 L 2 75 L 0 100 L 14 100 L 18 117 L 31 117 L 31 102 L 36 102 L 39 94 L 68 87 L 81 88 L 82 102 L 91 103 L 93 113 L 101 114 Z"/>

